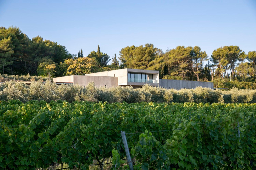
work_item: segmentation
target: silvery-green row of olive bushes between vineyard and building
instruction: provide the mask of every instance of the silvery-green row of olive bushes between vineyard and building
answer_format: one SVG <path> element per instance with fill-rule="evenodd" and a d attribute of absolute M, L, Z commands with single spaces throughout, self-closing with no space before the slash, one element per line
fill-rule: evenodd
<path fill-rule="evenodd" d="M 0 84 L 0 100 L 45 100 L 46 102 L 66 100 L 91 102 L 195 102 L 195 103 L 256 103 L 256 90 L 232 88 L 229 91 L 212 90 L 197 87 L 196 89 L 164 89 L 145 85 L 142 88 L 112 87 L 97 88 L 90 83 L 83 88 L 79 85 L 60 85 L 46 81 L 45 85 L 38 80 L 30 86 L 22 82 L 7 81 Z"/>

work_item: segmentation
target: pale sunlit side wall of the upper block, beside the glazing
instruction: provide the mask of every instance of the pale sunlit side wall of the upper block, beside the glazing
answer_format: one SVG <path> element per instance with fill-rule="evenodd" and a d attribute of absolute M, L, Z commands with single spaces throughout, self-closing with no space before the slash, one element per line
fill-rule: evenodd
<path fill-rule="evenodd" d="M 127 85 L 127 68 L 119 69 L 119 70 L 111 70 L 111 71 L 103 71 L 98 73 L 90 73 L 86 74 L 88 76 L 108 76 L 108 77 L 118 77 L 118 85 Z"/>

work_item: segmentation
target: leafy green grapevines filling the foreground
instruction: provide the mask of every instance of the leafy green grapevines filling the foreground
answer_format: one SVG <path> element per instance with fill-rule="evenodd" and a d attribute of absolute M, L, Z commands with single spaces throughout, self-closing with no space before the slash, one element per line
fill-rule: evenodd
<path fill-rule="evenodd" d="M 111 158 L 129 169 L 256 169 L 256 104 L 0 102 L 0 169 Z"/>

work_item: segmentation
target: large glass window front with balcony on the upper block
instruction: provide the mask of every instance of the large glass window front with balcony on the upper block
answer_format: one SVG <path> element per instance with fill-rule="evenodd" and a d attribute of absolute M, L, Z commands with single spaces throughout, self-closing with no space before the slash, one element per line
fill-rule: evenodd
<path fill-rule="evenodd" d="M 158 83 L 157 80 L 153 79 L 153 74 L 145 73 L 129 73 L 128 82 L 139 82 L 139 83 Z"/>

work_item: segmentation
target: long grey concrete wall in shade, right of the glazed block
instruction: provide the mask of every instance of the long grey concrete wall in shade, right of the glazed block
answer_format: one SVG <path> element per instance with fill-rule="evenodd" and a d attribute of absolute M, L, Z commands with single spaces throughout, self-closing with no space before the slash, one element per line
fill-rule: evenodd
<path fill-rule="evenodd" d="M 202 82 L 202 81 L 186 81 L 186 80 L 168 80 L 168 79 L 159 79 L 159 86 L 166 89 L 194 89 L 198 86 L 209 87 L 213 89 L 213 83 Z"/>

